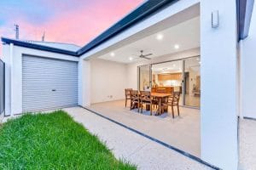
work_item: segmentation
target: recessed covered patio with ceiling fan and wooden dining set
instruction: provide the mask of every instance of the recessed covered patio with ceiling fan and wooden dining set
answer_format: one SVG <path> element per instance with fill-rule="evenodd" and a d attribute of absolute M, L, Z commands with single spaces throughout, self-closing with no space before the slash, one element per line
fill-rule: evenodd
<path fill-rule="evenodd" d="M 87 108 L 200 158 L 200 55 L 200 6 L 195 4 L 91 56 Z M 139 99 L 131 99 L 131 93 Z"/>

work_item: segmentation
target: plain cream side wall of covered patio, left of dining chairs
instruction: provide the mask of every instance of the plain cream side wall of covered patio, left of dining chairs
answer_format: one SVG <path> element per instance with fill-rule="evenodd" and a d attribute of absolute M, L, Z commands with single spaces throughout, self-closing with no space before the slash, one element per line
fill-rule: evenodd
<path fill-rule="evenodd" d="M 91 104 L 125 98 L 126 65 L 103 59 L 90 60 Z"/>

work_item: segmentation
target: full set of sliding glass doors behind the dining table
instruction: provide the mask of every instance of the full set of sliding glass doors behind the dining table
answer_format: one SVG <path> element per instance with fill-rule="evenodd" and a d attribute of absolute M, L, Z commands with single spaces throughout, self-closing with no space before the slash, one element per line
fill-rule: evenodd
<path fill-rule="evenodd" d="M 138 66 L 138 89 L 181 93 L 180 105 L 200 108 L 201 100 L 200 56 L 177 59 L 152 65 Z"/>

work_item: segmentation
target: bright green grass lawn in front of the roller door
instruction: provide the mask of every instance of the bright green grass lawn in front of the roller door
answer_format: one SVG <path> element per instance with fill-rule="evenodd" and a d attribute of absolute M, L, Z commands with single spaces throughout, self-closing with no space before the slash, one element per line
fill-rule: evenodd
<path fill-rule="evenodd" d="M 27 114 L 0 126 L 0 169 L 136 169 L 118 161 L 64 111 Z"/>

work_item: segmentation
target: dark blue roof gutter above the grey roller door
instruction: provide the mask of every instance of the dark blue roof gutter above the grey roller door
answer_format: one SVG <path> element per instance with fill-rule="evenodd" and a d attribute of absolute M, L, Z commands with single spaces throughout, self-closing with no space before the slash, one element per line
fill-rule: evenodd
<path fill-rule="evenodd" d="M 65 50 L 65 49 L 60 49 L 60 48 L 52 48 L 44 45 L 39 45 L 31 42 L 21 42 L 19 40 L 14 40 L 14 39 L 9 39 L 6 37 L 1 37 L 2 42 L 5 42 L 7 44 L 13 43 L 16 46 L 24 47 L 24 48 L 33 48 L 33 49 L 38 49 L 38 50 L 43 50 L 43 51 L 48 51 L 52 53 L 57 53 L 57 54 L 67 54 L 67 55 L 72 55 L 75 57 L 79 57 L 77 52 Z"/>

